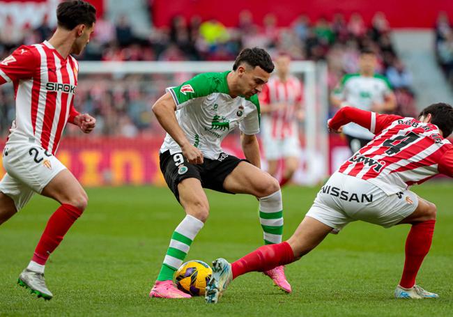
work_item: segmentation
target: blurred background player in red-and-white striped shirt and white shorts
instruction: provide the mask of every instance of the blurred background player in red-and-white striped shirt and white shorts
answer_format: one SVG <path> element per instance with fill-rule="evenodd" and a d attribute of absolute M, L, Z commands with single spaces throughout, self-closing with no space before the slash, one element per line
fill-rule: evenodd
<path fill-rule="evenodd" d="M 261 105 L 261 140 L 268 173 L 277 177 L 283 160 L 280 186 L 285 185 L 298 168 L 300 157 L 299 121 L 302 120 L 302 83 L 291 75 L 291 58 L 279 54 L 275 59 L 276 74 L 270 77 L 259 94 Z"/>

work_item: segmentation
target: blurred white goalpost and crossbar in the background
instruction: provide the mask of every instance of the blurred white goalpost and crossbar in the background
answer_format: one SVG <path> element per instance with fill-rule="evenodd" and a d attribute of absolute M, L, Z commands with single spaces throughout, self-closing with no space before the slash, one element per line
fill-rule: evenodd
<path fill-rule="evenodd" d="M 152 86 L 153 75 L 169 77 L 169 86 L 180 84 L 171 75 L 185 74 L 187 79 L 201 72 L 223 72 L 231 69 L 233 61 L 82 61 L 79 65 L 79 85 L 91 75 L 114 77 L 148 75 L 146 85 Z M 305 120 L 301 124 L 302 153 L 300 168 L 295 173 L 295 183 L 316 185 L 329 173 L 327 68 L 323 63 L 293 61 L 291 72 L 304 83 Z M 109 76 L 110 75 L 110 76 Z M 125 79 L 127 87 L 127 79 Z M 156 84 L 156 86 L 159 86 Z M 162 94 L 164 91 L 160 91 Z M 151 111 L 151 109 L 149 110 Z"/>

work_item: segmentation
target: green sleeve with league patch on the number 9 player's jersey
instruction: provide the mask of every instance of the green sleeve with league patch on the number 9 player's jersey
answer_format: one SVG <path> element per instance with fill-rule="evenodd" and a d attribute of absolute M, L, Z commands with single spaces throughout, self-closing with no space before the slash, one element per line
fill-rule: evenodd
<path fill-rule="evenodd" d="M 176 109 L 180 109 L 185 102 L 194 98 L 205 97 L 212 93 L 212 86 L 213 83 L 210 82 L 209 77 L 200 74 L 179 86 L 166 88 L 165 91 L 173 97 Z"/>

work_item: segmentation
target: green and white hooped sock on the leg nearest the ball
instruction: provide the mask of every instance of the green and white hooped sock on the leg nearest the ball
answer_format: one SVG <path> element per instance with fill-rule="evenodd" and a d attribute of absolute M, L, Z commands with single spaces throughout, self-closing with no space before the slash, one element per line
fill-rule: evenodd
<path fill-rule="evenodd" d="M 187 215 L 176 227 L 171 235 L 170 245 L 162 263 L 158 281 L 173 279 L 173 274 L 183 264 L 185 256 L 189 252 L 192 241 L 197 236 L 204 223 L 201 220 Z"/>

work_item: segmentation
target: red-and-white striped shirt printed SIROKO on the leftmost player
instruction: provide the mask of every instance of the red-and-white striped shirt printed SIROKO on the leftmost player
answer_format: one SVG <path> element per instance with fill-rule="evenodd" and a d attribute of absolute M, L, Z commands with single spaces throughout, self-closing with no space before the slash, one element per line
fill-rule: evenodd
<path fill-rule="evenodd" d="M 0 62 L 0 84 L 13 82 L 16 118 L 8 144 L 34 142 L 52 153 L 58 148 L 63 128 L 74 122 L 77 61 L 66 59 L 45 41 L 24 46 Z"/>

